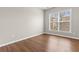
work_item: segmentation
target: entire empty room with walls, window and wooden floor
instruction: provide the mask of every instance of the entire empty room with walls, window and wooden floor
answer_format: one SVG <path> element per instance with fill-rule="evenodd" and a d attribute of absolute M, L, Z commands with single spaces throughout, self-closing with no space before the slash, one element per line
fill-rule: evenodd
<path fill-rule="evenodd" d="M 79 7 L 0 7 L 0 52 L 79 52 Z"/>

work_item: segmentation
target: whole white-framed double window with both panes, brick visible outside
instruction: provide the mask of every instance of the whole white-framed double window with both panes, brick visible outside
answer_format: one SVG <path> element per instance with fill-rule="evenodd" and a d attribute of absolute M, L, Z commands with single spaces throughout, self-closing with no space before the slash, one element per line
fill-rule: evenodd
<path fill-rule="evenodd" d="M 71 32 L 71 10 L 50 14 L 51 31 Z"/>

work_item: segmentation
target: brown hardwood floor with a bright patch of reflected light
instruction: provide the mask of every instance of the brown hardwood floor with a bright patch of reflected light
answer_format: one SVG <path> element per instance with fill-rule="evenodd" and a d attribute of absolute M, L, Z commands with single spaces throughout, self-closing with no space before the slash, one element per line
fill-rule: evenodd
<path fill-rule="evenodd" d="M 77 52 L 79 40 L 52 35 L 39 35 L 8 46 L 0 47 L 0 52 Z"/>

